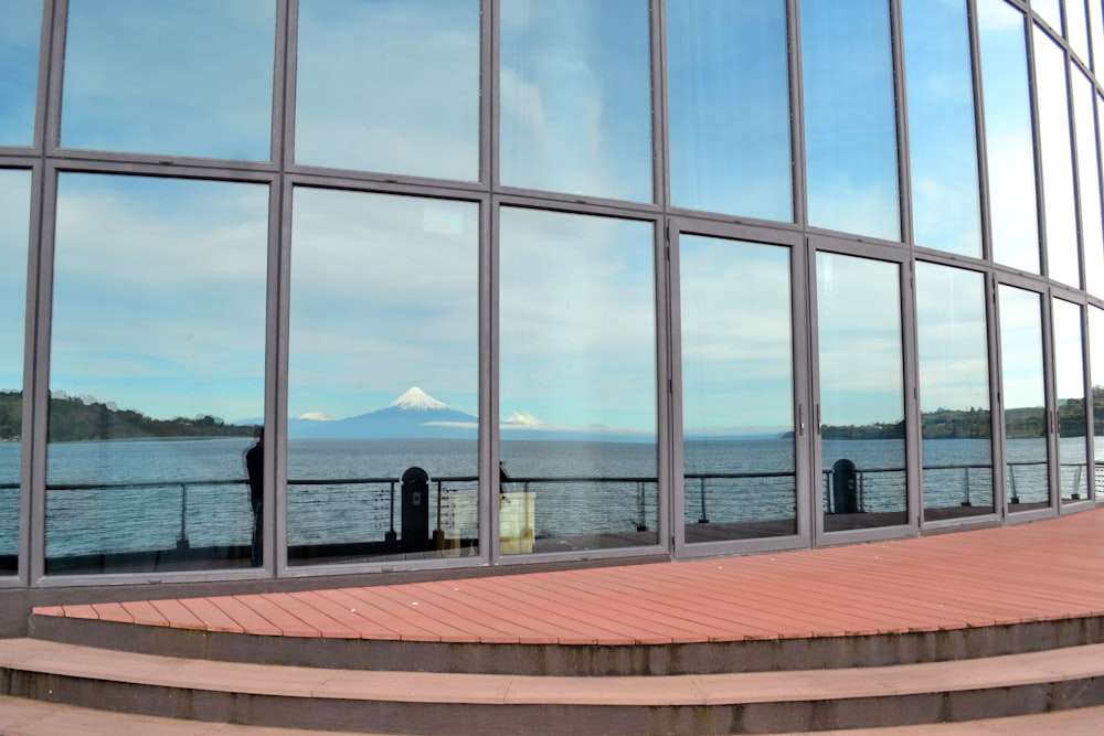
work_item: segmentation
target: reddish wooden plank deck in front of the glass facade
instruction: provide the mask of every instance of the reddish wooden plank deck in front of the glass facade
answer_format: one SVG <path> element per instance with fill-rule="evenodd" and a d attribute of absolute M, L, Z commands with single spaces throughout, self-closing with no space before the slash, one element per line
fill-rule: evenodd
<path fill-rule="evenodd" d="M 1104 509 L 747 557 L 40 614 L 285 637 L 638 644 L 955 630 L 1104 616 Z"/>

